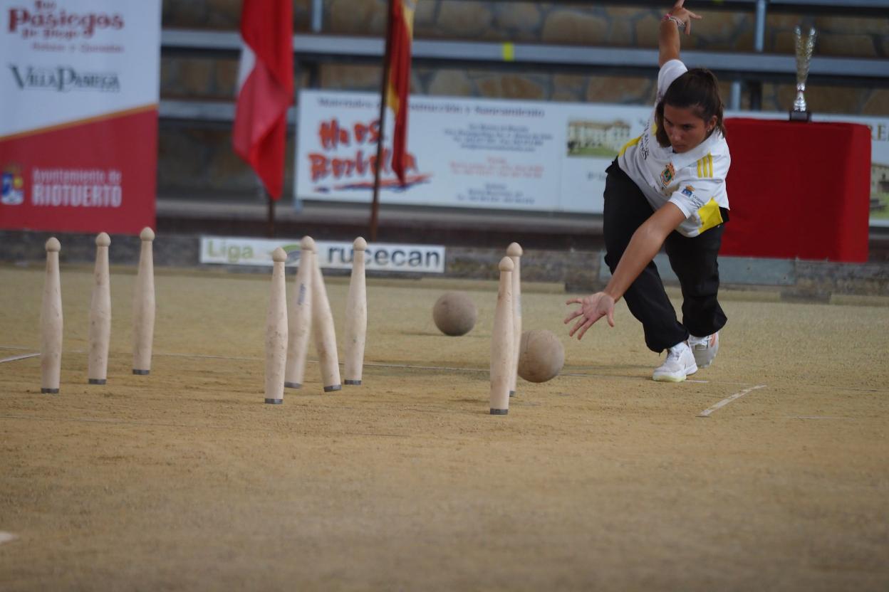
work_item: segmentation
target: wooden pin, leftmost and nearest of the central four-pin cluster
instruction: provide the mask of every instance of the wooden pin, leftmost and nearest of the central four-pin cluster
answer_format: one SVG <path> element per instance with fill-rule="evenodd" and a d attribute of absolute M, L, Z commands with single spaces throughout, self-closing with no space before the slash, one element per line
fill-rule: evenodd
<path fill-rule="evenodd" d="M 287 294 L 284 263 L 287 253 L 278 247 L 272 252 L 272 288 L 266 315 L 266 403 L 284 402 L 284 366 L 287 363 Z"/>

